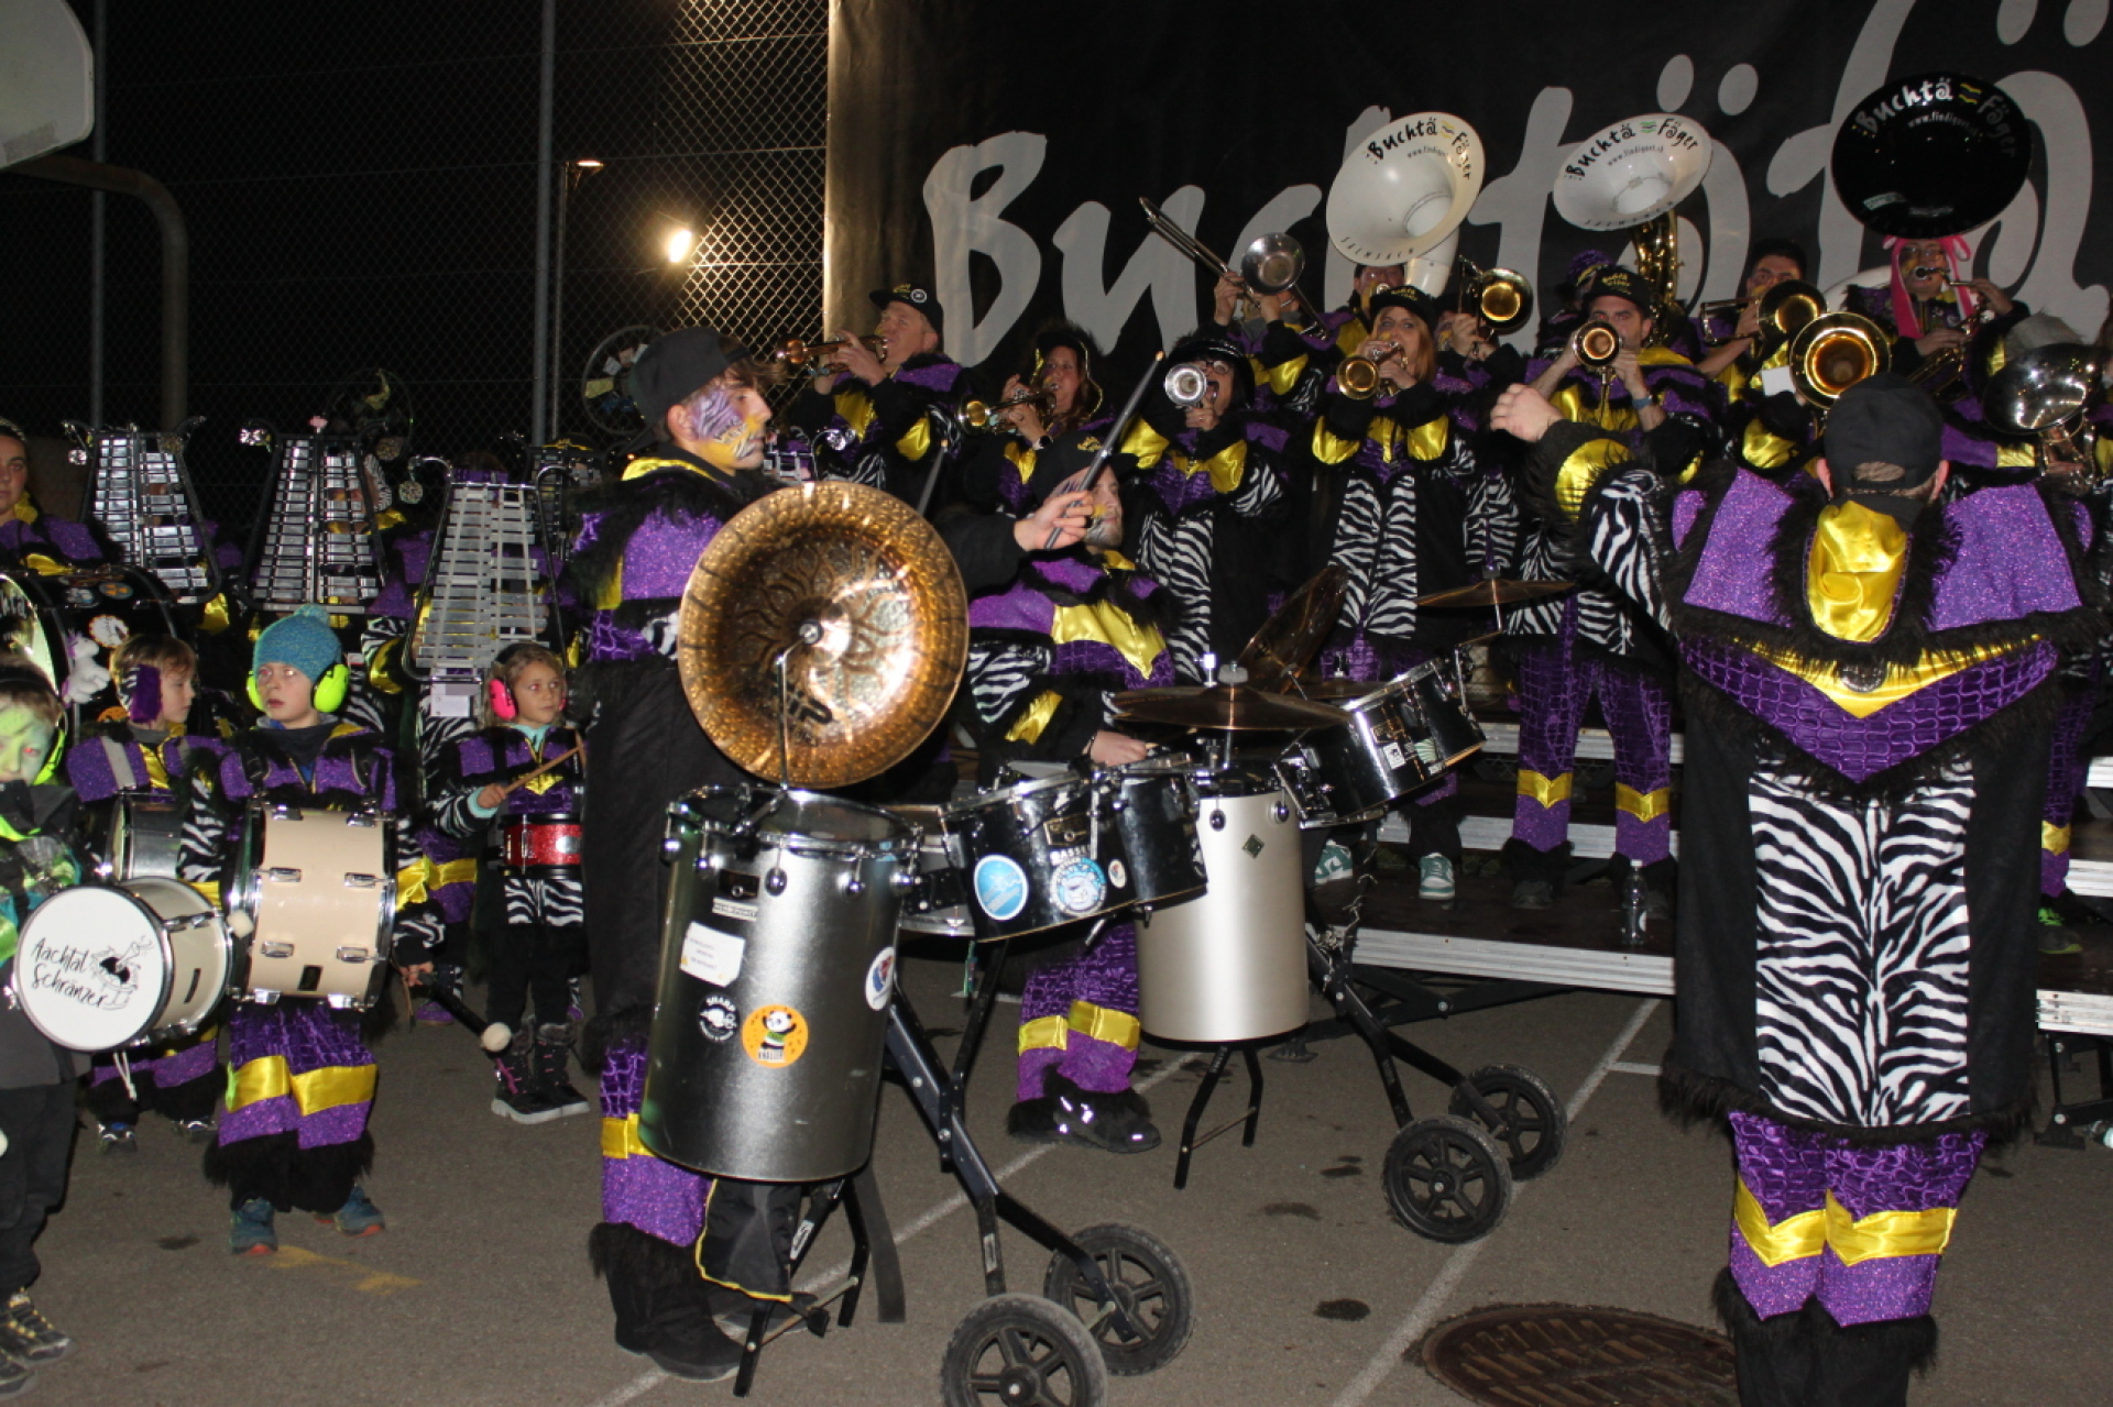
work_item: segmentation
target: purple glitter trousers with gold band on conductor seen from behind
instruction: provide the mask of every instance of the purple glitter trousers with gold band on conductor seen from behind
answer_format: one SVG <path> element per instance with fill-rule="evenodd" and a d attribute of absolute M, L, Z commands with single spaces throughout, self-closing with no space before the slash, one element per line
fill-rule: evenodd
<path fill-rule="evenodd" d="M 1754 1314 L 1792 1314 L 1809 1299 L 1843 1327 L 1929 1314 L 1984 1132 L 1855 1147 L 1733 1113 L 1731 1134 L 1743 1187 L 1731 1276 Z"/>

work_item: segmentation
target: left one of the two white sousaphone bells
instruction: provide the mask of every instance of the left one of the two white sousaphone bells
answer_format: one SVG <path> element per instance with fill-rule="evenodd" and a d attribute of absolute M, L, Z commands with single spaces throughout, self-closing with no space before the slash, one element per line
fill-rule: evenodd
<path fill-rule="evenodd" d="M 1481 194 L 1481 137 L 1450 112 L 1395 118 L 1344 156 L 1327 234 L 1359 264 L 1405 264 L 1460 228 Z"/>

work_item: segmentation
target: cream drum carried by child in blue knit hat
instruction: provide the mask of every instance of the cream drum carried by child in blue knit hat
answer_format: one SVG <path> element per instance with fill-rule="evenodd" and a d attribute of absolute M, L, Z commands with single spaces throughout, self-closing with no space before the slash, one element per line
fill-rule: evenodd
<path fill-rule="evenodd" d="M 239 1001 L 374 1006 L 395 927 L 393 841 L 380 811 L 249 807 L 228 892 L 228 913 L 251 925 L 235 957 Z"/>

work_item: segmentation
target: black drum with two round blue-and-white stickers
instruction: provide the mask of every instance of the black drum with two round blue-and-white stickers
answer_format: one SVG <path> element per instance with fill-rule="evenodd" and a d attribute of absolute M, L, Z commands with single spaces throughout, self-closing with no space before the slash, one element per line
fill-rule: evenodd
<path fill-rule="evenodd" d="M 1065 773 L 957 801 L 947 807 L 947 830 L 968 864 L 978 938 L 1078 923 L 1122 908 L 1135 894 L 1122 837 L 1084 777 Z"/>

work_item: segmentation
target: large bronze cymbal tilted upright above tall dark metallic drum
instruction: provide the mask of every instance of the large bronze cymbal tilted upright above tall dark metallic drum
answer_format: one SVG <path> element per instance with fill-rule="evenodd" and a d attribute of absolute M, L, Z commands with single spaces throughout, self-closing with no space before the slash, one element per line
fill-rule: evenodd
<path fill-rule="evenodd" d="M 849 786 L 909 756 L 968 663 L 968 596 L 932 524 L 837 482 L 735 513 L 682 592 L 676 663 L 721 752 L 773 782 L 786 649 L 794 786 Z"/>

